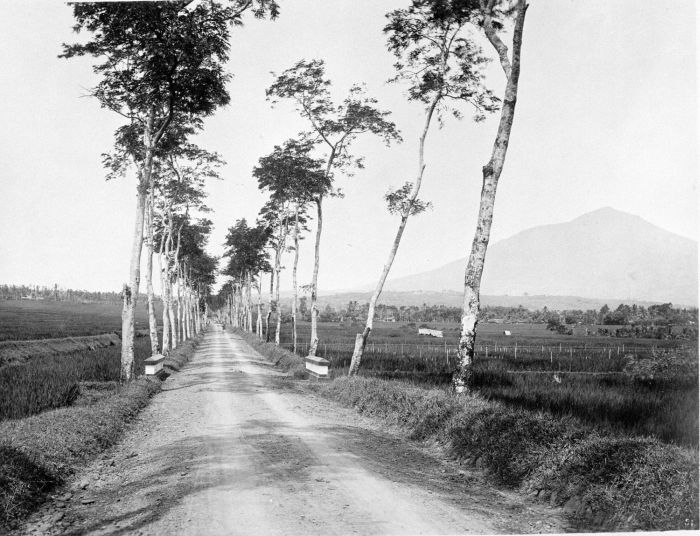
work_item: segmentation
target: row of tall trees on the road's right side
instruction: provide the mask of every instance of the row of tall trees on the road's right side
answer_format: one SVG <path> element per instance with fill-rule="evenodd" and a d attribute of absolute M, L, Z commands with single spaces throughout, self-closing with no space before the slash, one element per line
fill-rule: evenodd
<path fill-rule="evenodd" d="M 369 302 L 365 328 L 356 337 L 349 372 L 351 375 L 357 374 L 360 369 L 363 351 L 372 332 L 377 300 L 391 270 L 408 219 L 430 206 L 430 203 L 421 201 L 418 195 L 427 166 L 425 144 L 431 124 L 434 119 L 442 123 L 447 113 L 461 118 L 461 107 L 467 106 L 473 109 L 475 121 L 481 121 L 486 114 L 500 110 L 491 158 L 482 169 L 479 216 L 465 269 L 458 350 L 459 368 L 453 378 L 457 392 L 463 392 L 471 382 L 480 308 L 479 290 L 490 238 L 496 189 L 505 163 L 514 120 L 526 10 L 525 0 L 412 0 L 408 8 L 387 14 L 389 22 L 384 32 L 388 37 L 388 48 L 397 58 L 397 74 L 393 81 L 408 83 L 408 98 L 425 105 L 425 117 L 423 129 L 418 137 L 415 178 L 385 196 L 389 212 L 398 215 L 400 221 L 387 262 Z M 510 51 L 504 41 L 504 35 L 507 33 L 512 35 Z M 492 58 L 484 52 L 478 41 L 483 41 L 490 47 L 500 62 L 506 78 L 503 99 L 499 99 L 485 85 L 483 69 Z M 337 173 L 349 175 L 353 167 L 362 166 L 362 158 L 350 151 L 352 142 L 359 135 L 375 134 L 387 145 L 392 141 L 401 141 L 396 126 L 387 118 L 389 113 L 378 110 L 375 106 L 376 101 L 365 96 L 362 86 L 353 86 L 345 101 L 335 104 L 329 95 L 330 84 L 330 80 L 325 77 L 322 60 L 301 60 L 276 77 L 267 90 L 268 98 L 273 104 L 282 99 L 292 101 L 296 111 L 308 121 L 310 129 L 301 133 L 299 139 L 288 140 L 283 146 L 275 147 L 269 156 L 260 159 L 259 166 L 253 172 L 258 178 L 260 188 L 270 193 L 270 200 L 261 211 L 257 223 L 258 227 L 264 230 L 260 232 L 267 233 L 266 246 L 272 249 L 274 256 L 274 266 L 270 269 L 267 339 L 270 339 L 270 316 L 277 310 L 275 342 L 279 344 L 279 275 L 281 256 L 291 230 L 294 245 L 290 249 L 295 252 L 292 305 L 295 348 L 299 235 L 300 231 L 305 230 L 307 206 L 316 205 L 314 267 L 309 285 L 310 355 L 316 354 L 319 340 L 317 291 L 323 200 L 329 195 L 340 195 L 335 181 Z M 321 160 L 311 156 L 313 149 L 316 149 L 316 152 L 325 149 Z M 239 224 L 241 222 L 237 225 Z M 229 246 L 232 244 L 229 243 Z M 264 246 L 261 246 L 260 251 L 262 249 Z M 232 259 L 235 257 L 235 251 L 236 246 L 229 251 Z M 247 284 L 250 285 L 252 272 L 247 270 L 245 273 L 249 274 Z M 259 277 L 260 274 L 260 291 Z M 231 288 L 235 289 L 235 284 Z M 233 303 L 233 300 L 230 302 Z"/>

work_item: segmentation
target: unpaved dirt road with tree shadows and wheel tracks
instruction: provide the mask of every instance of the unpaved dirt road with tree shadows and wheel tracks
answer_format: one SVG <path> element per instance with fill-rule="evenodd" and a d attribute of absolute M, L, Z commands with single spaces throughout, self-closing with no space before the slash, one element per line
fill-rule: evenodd
<path fill-rule="evenodd" d="M 126 437 L 54 495 L 25 534 L 564 532 L 381 424 L 300 392 L 214 326 Z"/>

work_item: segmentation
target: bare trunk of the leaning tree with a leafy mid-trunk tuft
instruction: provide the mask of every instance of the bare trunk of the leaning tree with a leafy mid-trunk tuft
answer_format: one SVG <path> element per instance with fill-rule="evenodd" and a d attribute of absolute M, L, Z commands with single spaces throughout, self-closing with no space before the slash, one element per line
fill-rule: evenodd
<path fill-rule="evenodd" d="M 372 332 L 374 322 L 374 310 L 377 305 L 377 300 L 379 299 L 379 296 L 382 293 L 382 289 L 384 288 L 384 283 L 386 282 L 386 278 L 389 275 L 391 266 L 394 264 L 396 252 L 399 249 L 399 244 L 401 243 L 401 237 L 403 236 L 404 229 L 406 228 L 406 223 L 408 222 L 408 218 L 413 212 L 413 204 L 416 202 L 416 199 L 418 199 L 418 193 L 420 192 L 421 183 L 423 181 L 423 172 L 425 171 L 425 139 L 428 136 L 428 129 L 430 128 L 430 121 L 433 118 L 435 107 L 437 106 L 438 102 L 440 102 L 441 98 L 442 96 L 438 93 L 431 102 L 430 106 L 428 107 L 428 111 L 426 112 L 425 125 L 423 127 L 423 132 L 421 133 L 418 142 L 418 174 L 416 176 L 416 181 L 413 183 L 413 188 L 411 188 L 411 193 L 409 194 L 409 197 L 407 199 L 408 206 L 404 209 L 403 213 L 401 214 L 401 222 L 399 223 L 399 228 L 396 231 L 394 243 L 392 244 L 391 250 L 389 251 L 389 258 L 387 259 L 386 264 L 384 264 L 382 273 L 379 276 L 379 281 L 377 281 L 377 286 L 374 288 L 374 293 L 372 294 L 372 297 L 369 300 L 369 309 L 367 311 L 367 321 L 365 322 L 365 329 L 362 331 L 362 333 L 358 333 L 355 336 L 355 349 L 353 350 L 352 359 L 350 360 L 350 369 L 348 370 L 348 374 L 350 376 L 357 375 L 357 372 L 360 370 L 360 364 L 362 363 L 362 355 L 365 351 L 365 346 L 367 345 L 367 339 L 369 339 L 369 335 Z"/>

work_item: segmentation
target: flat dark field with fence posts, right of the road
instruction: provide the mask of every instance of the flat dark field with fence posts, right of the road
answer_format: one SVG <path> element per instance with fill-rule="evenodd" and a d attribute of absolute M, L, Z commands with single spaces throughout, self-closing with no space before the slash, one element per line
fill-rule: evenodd
<path fill-rule="evenodd" d="M 319 325 L 318 354 L 331 376 L 347 373 L 362 325 Z M 418 335 L 418 326 L 378 323 L 361 374 L 419 385 L 449 385 L 457 365 L 458 327 L 430 324 L 444 338 Z M 504 332 L 511 332 L 506 336 Z M 300 323 L 299 355 L 309 326 Z M 291 326 L 281 342 L 291 348 Z M 515 407 L 571 415 L 625 434 L 698 444 L 698 349 L 688 341 L 560 335 L 542 324 L 479 326 L 474 385 L 488 399 Z"/>

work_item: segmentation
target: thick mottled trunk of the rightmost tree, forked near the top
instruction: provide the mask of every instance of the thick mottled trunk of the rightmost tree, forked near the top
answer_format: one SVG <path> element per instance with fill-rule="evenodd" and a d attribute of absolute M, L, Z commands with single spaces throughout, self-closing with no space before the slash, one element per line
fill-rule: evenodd
<path fill-rule="evenodd" d="M 513 57 L 508 61 L 505 46 L 494 31 L 490 17 L 486 16 L 484 31 L 487 38 L 499 54 L 501 65 L 506 74 L 505 98 L 501 108 L 501 120 L 498 124 L 496 140 L 489 163 L 483 167 L 483 184 L 481 199 L 479 201 L 479 219 L 474 233 L 469 261 L 464 274 L 464 302 L 462 306 L 462 322 L 459 337 L 457 355 L 459 358 L 458 369 L 455 371 L 452 382 L 457 393 L 469 389 L 472 383 L 474 368 L 474 349 L 476 343 L 476 329 L 479 318 L 479 291 L 481 288 L 481 276 L 484 271 L 486 249 L 491 235 L 491 223 L 493 222 L 493 208 L 496 201 L 496 188 L 498 179 L 503 171 L 508 142 L 513 127 L 515 116 L 515 103 L 518 96 L 518 81 L 520 78 L 520 51 L 522 48 L 523 26 L 525 24 L 525 11 L 527 3 L 519 0 L 515 29 L 513 31 Z"/>

